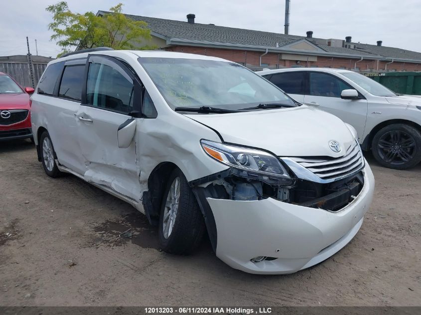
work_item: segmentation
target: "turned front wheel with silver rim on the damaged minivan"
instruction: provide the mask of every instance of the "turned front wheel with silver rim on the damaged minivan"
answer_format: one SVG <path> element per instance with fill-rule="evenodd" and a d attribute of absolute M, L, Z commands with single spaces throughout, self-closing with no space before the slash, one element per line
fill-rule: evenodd
<path fill-rule="evenodd" d="M 178 207 L 171 198 L 171 189 L 179 187 Z M 175 195 L 177 195 L 175 193 Z M 168 204 L 167 204 L 168 199 Z M 174 205 L 171 211 L 169 205 Z M 174 213 L 171 214 L 171 213 Z M 173 217 L 172 228 L 171 217 Z M 166 224 L 165 224 L 166 222 Z M 205 230 L 202 212 L 188 182 L 180 169 L 172 171 L 162 197 L 159 216 L 159 243 L 165 252 L 178 255 L 191 253 L 200 243 Z"/>

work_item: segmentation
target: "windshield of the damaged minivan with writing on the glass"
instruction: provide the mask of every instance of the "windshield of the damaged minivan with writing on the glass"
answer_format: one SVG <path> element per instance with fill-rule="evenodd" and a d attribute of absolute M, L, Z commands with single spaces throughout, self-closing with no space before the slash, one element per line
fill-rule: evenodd
<path fill-rule="evenodd" d="M 295 106 L 277 87 L 235 63 L 179 58 L 139 58 L 139 62 L 172 109 Z"/>

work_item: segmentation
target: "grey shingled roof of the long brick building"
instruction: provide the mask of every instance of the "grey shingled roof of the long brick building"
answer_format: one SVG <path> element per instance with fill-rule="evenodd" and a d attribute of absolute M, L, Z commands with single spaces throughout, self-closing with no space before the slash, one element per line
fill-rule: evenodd
<path fill-rule="evenodd" d="M 98 11 L 98 14 L 110 13 Z M 136 21 L 145 21 L 151 34 L 161 37 L 171 44 L 185 44 L 194 46 L 219 46 L 234 49 L 255 49 L 268 48 L 270 51 L 305 53 L 314 55 L 326 55 L 337 57 L 368 59 L 403 59 L 403 61 L 421 62 L 421 53 L 370 44 L 352 43 L 355 49 L 345 47 L 332 47 L 327 45 L 327 39 L 307 38 L 305 36 L 285 35 L 257 31 L 251 29 L 234 28 L 213 24 L 188 23 L 187 21 L 170 20 L 164 18 L 125 14 Z M 292 43 L 297 41 L 308 41 L 318 47 L 317 51 L 298 51 L 290 49 Z"/>

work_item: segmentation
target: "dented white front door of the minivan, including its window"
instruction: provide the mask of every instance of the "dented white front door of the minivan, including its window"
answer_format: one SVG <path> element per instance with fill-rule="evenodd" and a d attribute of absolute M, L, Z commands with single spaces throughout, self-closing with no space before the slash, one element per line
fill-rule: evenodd
<path fill-rule="evenodd" d="M 140 83 L 124 63 L 109 56 L 90 55 L 87 67 L 86 91 L 76 114 L 84 178 L 139 202 L 134 126 L 140 119 Z M 119 134 L 125 137 L 120 147 Z"/>

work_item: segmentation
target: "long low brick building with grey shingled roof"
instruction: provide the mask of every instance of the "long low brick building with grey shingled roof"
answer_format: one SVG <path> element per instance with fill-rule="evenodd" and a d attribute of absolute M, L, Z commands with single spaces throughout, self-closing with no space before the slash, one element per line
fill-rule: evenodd
<path fill-rule="evenodd" d="M 98 15 L 108 13 L 98 11 Z M 129 15 L 148 24 L 152 39 L 144 45 L 159 49 L 221 57 L 251 69 L 331 67 L 359 72 L 421 71 L 421 53 L 341 39 L 285 35 L 249 29 Z"/>

